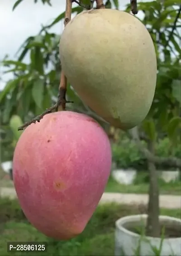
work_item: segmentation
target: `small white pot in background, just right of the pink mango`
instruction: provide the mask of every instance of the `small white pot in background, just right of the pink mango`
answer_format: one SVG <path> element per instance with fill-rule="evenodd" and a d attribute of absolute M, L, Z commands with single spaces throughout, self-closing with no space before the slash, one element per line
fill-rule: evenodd
<path fill-rule="evenodd" d="M 134 179 L 136 178 L 137 171 L 134 169 L 117 169 L 112 171 L 112 177 L 119 184 L 133 184 Z"/>

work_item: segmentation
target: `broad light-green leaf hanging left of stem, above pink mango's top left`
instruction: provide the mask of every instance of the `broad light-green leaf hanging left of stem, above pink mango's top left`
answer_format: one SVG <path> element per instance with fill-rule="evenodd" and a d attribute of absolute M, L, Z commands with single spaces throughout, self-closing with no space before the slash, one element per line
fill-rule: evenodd
<path fill-rule="evenodd" d="M 44 81 L 38 79 L 34 82 L 32 88 L 33 100 L 39 108 L 42 108 L 43 103 L 43 91 L 44 91 Z"/>

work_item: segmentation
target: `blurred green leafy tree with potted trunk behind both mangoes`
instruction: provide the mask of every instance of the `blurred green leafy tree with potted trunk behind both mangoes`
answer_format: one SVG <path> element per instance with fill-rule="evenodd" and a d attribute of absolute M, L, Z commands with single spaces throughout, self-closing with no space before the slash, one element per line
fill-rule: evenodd
<path fill-rule="evenodd" d="M 13 9 L 18 8 L 22 1 L 16 1 Z M 34 0 L 35 3 L 37 1 Z M 39 1 L 51 5 L 51 0 Z M 89 0 L 81 2 L 87 4 Z M 106 8 L 119 9 L 118 0 L 106 0 L 104 3 Z M 72 8 L 72 14 L 82 10 L 77 5 Z M 147 118 L 139 127 L 127 132 L 124 138 L 120 137 L 120 131 L 110 127 L 83 104 L 70 84 L 67 87 L 67 100 L 74 103 L 67 104 L 67 110 L 85 113 L 100 122 L 112 142 L 113 159 L 117 159 L 123 167 L 129 167 L 130 162 L 138 164 L 140 160 L 140 168 L 144 164 L 143 168 L 149 169 L 148 233 L 154 237 L 160 234 L 156 168 L 181 167 L 178 159 L 181 158 L 181 3 L 180 0 L 139 2 L 138 10 L 144 14 L 142 22 L 152 37 L 157 53 L 157 87 Z M 130 12 L 130 5 L 126 6 L 125 11 Z M 51 24 L 42 27 L 37 35 L 27 38 L 19 48 L 16 60 L 5 56 L 1 62 L 6 69 L 5 73 L 13 74 L 13 78 L 0 92 L 1 161 L 11 160 L 13 156 L 15 144 L 10 126 L 12 116 L 18 115 L 26 122 L 57 101 L 61 73 L 58 48 L 60 35 L 50 33 L 49 30 L 62 19 L 64 13 L 59 14 Z M 30 59 L 28 64 L 24 62 L 27 55 Z M 129 145 L 130 140 L 132 144 Z M 123 143 L 127 143 L 124 146 L 127 153 L 120 150 Z M 123 154 L 126 155 L 125 161 L 123 158 L 121 160 Z"/>

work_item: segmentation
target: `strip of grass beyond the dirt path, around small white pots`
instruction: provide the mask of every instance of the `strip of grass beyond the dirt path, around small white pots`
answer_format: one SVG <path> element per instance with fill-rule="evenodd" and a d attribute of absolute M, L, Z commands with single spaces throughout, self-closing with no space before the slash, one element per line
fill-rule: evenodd
<path fill-rule="evenodd" d="M 171 194 L 171 195 L 181 195 L 181 181 L 169 182 L 166 183 L 163 180 L 159 179 L 159 190 L 160 194 Z M 105 192 L 111 193 L 148 193 L 149 180 L 148 174 L 139 173 L 134 184 L 125 185 L 119 184 L 111 176 L 108 181 L 108 184 L 105 188 Z"/>

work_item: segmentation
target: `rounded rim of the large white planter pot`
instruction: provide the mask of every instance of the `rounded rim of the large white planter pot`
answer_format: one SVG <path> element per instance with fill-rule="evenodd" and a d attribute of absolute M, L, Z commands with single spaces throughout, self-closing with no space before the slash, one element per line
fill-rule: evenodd
<path fill-rule="evenodd" d="M 122 225 L 124 225 L 125 223 L 128 223 L 129 221 L 135 221 L 135 222 L 140 222 L 141 218 L 142 219 L 146 219 L 148 217 L 147 214 L 137 214 L 137 215 L 129 215 L 129 216 L 125 216 L 125 217 L 122 217 L 120 219 L 118 219 L 116 222 L 115 222 L 115 226 L 118 230 L 124 232 L 125 234 L 129 235 L 129 236 L 132 236 L 132 237 L 141 237 L 140 235 L 132 232 L 132 231 L 129 231 L 128 229 L 126 229 L 125 227 L 123 227 Z M 172 222 L 179 222 L 181 224 L 181 219 L 179 218 L 175 218 L 175 217 L 170 217 L 170 216 L 167 216 L 167 215 L 160 215 L 159 216 L 159 219 L 161 221 L 172 221 Z M 146 237 L 147 239 L 149 240 L 154 240 L 155 242 L 159 242 L 161 240 L 160 237 Z M 180 241 L 181 240 L 181 237 L 176 237 L 176 238 L 165 238 L 164 241 L 165 242 L 171 242 L 171 241 L 175 241 L 175 240 L 178 240 Z"/>

